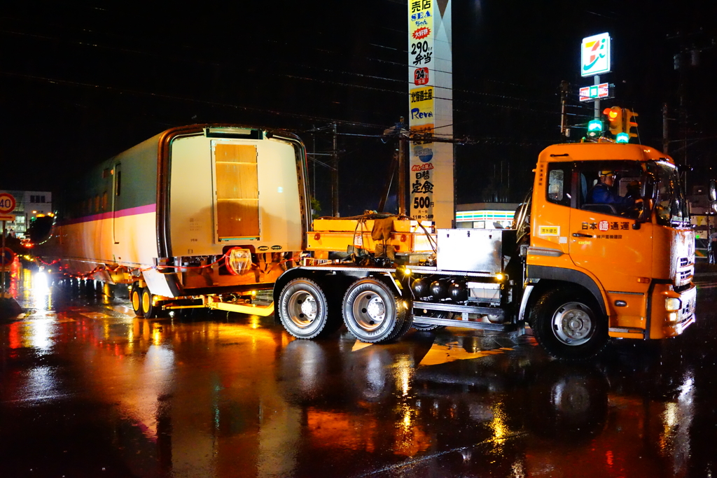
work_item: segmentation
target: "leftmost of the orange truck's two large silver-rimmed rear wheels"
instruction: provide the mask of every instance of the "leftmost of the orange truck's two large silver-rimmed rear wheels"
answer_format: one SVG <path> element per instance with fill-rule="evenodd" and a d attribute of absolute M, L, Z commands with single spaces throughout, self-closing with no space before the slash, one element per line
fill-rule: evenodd
<path fill-rule="evenodd" d="M 328 302 L 321 287 L 313 280 L 290 280 L 279 295 L 279 318 L 295 338 L 317 338 L 341 327 L 337 317 L 329 317 Z M 338 327 L 336 326 L 338 322 Z"/>

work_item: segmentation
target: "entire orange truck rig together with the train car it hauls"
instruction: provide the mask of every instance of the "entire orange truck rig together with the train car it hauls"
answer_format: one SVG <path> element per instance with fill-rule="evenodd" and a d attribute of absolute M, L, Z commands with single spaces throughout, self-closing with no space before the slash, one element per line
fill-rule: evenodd
<path fill-rule="evenodd" d="M 549 353 L 581 360 L 610 337 L 673 337 L 695 320 L 688 203 L 652 148 L 551 145 L 513 229 L 387 214 L 310 224 L 305 171 L 293 135 L 173 128 L 89 171 L 43 247 L 85 285 L 129 287 L 138 316 L 275 315 L 305 339 L 529 325 Z"/>

